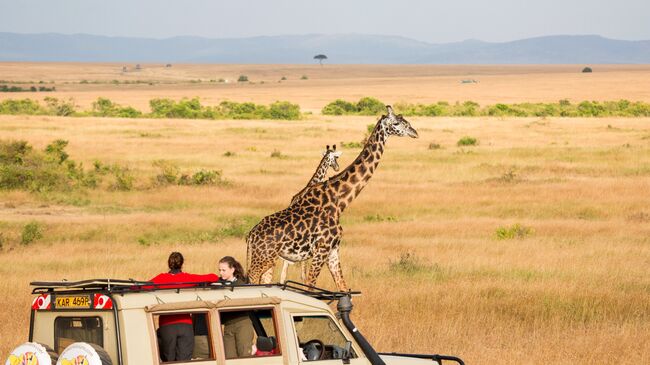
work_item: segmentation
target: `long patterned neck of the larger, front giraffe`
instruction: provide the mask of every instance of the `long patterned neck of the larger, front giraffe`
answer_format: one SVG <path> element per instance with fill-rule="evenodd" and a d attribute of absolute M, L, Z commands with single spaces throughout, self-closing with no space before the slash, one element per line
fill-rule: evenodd
<path fill-rule="evenodd" d="M 388 135 L 380 120 L 354 162 L 338 175 L 329 179 L 327 185 L 329 189 L 335 191 L 340 212 L 343 212 L 354 198 L 359 196 L 361 190 L 368 185 L 368 181 L 375 173 L 379 160 L 384 153 L 387 137 Z"/>

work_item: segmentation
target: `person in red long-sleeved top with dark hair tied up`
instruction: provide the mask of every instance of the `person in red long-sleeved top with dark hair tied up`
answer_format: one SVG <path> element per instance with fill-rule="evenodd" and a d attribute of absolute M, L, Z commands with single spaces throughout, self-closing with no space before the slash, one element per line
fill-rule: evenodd
<path fill-rule="evenodd" d="M 159 288 L 184 288 L 190 283 L 205 283 L 219 281 L 216 274 L 197 275 L 182 271 L 183 255 L 172 252 L 167 259 L 169 271 L 156 275 L 149 280 Z M 183 283 L 183 284 L 179 284 Z M 191 360 L 194 349 L 194 329 L 191 314 L 167 314 L 159 318 L 158 339 L 160 344 L 160 358 L 167 361 Z"/>

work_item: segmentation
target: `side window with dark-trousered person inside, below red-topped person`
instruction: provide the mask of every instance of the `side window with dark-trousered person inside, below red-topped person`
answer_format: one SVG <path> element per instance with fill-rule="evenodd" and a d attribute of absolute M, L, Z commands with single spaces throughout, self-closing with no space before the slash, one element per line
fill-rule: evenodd
<path fill-rule="evenodd" d="M 154 315 L 160 361 L 214 360 L 207 312 Z"/>

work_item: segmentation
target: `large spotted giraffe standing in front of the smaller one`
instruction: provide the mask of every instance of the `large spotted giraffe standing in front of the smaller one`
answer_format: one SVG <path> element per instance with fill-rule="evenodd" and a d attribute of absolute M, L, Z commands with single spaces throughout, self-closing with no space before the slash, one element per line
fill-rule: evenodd
<path fill-rule="evenodd" d="M 329 180 L 315 184 L 288 208 L 264 217 L 246 237 L 251 283 L 270 283 L 278 256 L 290 261 L 312 257 L 305 284 L 314 285 L 328 262 L 334 282 L 341 291 L 348 287 L 339 259 L 341 213 L 368 184 L 379 165 L 389 136 L 417 138 L 418 133 L 390 106 L 368 137 L 357 158 Z"/>

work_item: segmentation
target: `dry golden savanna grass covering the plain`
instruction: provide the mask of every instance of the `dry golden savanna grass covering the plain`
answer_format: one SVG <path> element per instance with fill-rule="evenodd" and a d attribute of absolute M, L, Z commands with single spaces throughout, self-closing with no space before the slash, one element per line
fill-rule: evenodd
<path fill-rule="evenodd" d="M 28 66 L 10 74 L 14 66 L 0 64 L 0 79 L 111 79 L 102 70 L 116 67 Z M 61 86 L 59 96 L 69 93 L 81 102 L 108 96 L 146 105 L 152 96 L 172 94 L 214 100 L 250 95 L 256 102 L 286 99 L 314 111 L 335 98 L 356 97 L 355 90 L 387 101 L 410 101 L 418 94 L 426 101 L 489 102 L 508 87 L 510 99 L 495 101 L 650 100 L 642 81 L 625 81 L 647 79 L 650 67 L 644 66 L 603 66 L 607 71 L 601 75 L 587 75 L 595 79 L 588 86 L 565 89 L 558 80 L 569 66 L 540 67 L 546 74 L 532 66 L 331 66 L 337 75 L 327 74 L 328 67 L 174 65 L 161 72 L 179 69 L 187 79 L 202 72 L 201 77 L 219 77 L 212 71 L 217 69 L 247 72 L 251 79 L 313 72 L 305 86 L 295 80 L 286 89 L 283 83 L 273 85 L 278 89 L 269 83 L 232 85 L 221 94 L 218 87 L 183 83 L 151 90 L 67 84 L 70 90 Z M 458 77 L 470 71 L 484 75 L 482 91 L 466 97 L 452 89 L 461 87 Z M 508 86 L 498 81 L 504 75 L 519 81 Z M 574 76 L 585 75 L 567 78 Z M 427 77 L 432 84 L 448 77 L 449 88 L 414 89 L 428 85 Z M 484 80 L 494 80 L 497 96 Z M 558 84 L 551 89 L 522 91 L 532 89 L 530 83 L 551 87 L 552 80 Z M 116 88 L 113 95 L 110 87 Z M 223 255 L 243 260 L 242 234 L 288 204 L 324 146 L 358 142 L 375 121 L 317 114 L 292 122 L 0 116 L 0 139 L 27 140 L 39 149 L 65 139 L 70 158 L 84 166 L 95 160 L 119 163 L 136 175 L 134 190 L 125 192 L 0 191 L 0 354 L 27 338 L 30 281 L 146 279 L 165 269 L 173 250 L 184 253 L 191 272 L 215 271 Z M 410 121 L 420 139 L 388 141 L 378 171 L 342 221 L 344 274 L 363 292 L 355 299 L 353 318 L 371 343 L 381 351 L 454 354 L 468 364 L 649 363 L 650 120 Z M 478 144 L 457 146 L 464 136 Z M 279 158 L 271 157 L 274 151 Z M 344 148 L 340 164 L 346 166 L 358 152 Z M 229 184 L 154 187 L 158 170 L 152 163 L 161 159 L 183 170 L 219 169 Z M 43 237 L 21 245 L 29 222 L 38 222 Z M 299 278 L 298 267 L 290 269 L 290 277 Z M 334 287 L 326 270 L 319 285 Z"/>

